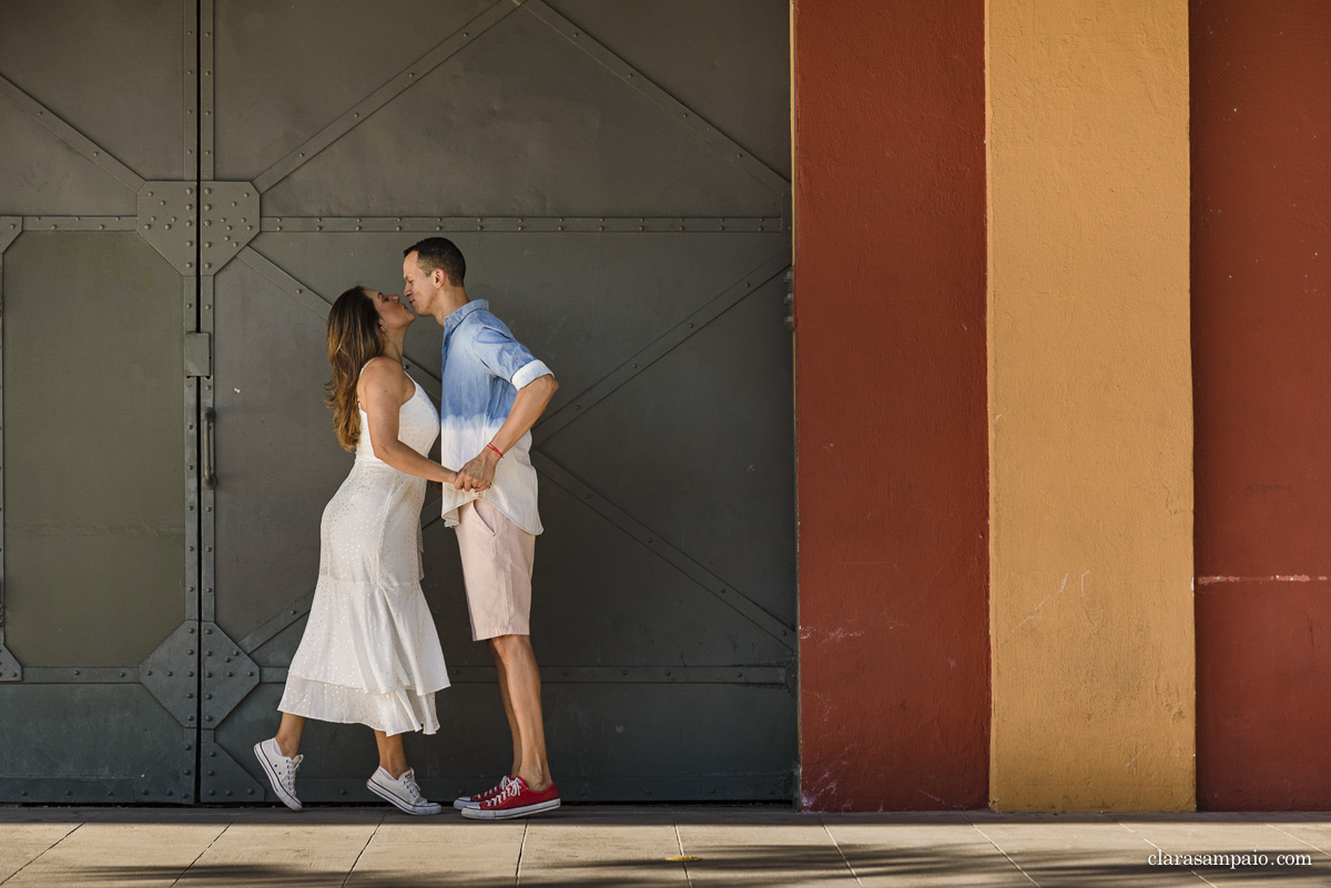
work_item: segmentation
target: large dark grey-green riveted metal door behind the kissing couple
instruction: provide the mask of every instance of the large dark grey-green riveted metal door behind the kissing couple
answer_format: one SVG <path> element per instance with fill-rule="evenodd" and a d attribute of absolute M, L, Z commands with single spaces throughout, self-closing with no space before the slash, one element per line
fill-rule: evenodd
<path fill-rule="evenodd" d="M 249 747 L 349 468 L 323 318 L 434 233 L 562 383 L 534 643 L 566 796 L 791 798 L 787 27 L 785 0 L 0 7 L 0 802 L 272 799 Z M 413 328 L 435 396 L 438 348 Z M 446 796 L 508 740 L 422 521 L 454 687 L 409 754 Z M 369 731 L 306 738 L 302 798 L 369 800 Z"/>

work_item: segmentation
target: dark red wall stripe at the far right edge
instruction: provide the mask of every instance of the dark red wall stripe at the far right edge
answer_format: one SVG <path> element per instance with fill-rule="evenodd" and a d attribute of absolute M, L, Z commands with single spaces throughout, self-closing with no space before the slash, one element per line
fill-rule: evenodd
<path fill-rule="evenodd" d="M 1198 806 L 1331 808 L 1331 7 L 1193 0 Z"/>

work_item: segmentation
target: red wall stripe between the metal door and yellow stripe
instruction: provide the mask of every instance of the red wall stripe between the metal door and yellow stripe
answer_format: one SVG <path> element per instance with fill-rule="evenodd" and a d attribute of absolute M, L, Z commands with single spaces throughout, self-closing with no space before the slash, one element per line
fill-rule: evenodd
<path fill-rule="evenodd" d="M 796 0 L 804 807 L 988 799 L 984 3 Z"/>

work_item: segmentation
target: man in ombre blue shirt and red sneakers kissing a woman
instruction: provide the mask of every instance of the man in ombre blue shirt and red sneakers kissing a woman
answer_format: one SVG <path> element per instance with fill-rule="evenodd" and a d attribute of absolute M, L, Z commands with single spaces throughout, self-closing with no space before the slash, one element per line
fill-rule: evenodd
<path fill-rule="evenodd" d="M 426 238 L 402 259 L 402 295 L 443 327 L 441 461 L 462 467 L 457 481 L 443 485 L 443 520 L 458 533 L 471 637 L 490 645 L 512 732 L 508 775 L 454 807 L 465 818 L 500 820 L 559 807 L 530 637 L 542 526 L 528 433 L 559 384 L 484 300 L 467 298 L 466 273 L 462 251 L 447 238 Z"/>

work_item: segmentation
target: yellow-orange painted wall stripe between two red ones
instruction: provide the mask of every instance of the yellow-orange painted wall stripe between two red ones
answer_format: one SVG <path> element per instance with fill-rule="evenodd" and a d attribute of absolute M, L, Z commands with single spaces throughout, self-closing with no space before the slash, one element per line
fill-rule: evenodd
<path fill-rule="evenodd" d="M 986 49 L 990 803 L 1187 810 L 1187 7 L 989 0 Z"/>

